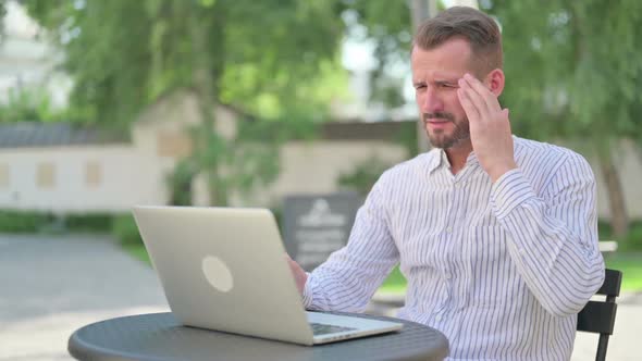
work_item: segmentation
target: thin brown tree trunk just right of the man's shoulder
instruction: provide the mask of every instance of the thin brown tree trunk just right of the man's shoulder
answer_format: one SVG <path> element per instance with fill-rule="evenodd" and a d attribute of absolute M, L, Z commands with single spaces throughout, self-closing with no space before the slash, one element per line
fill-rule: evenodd
<path fill-rule="evenodd" d="M 608 192 L 608 206 L 610 208 L 610 226 L 615 237 L 625 236 L 629 232 L 629 217 L 625 204 L 625 195 L 619 174 L 613 163 L 610 152 L 600 154 L 600 169 Z"/>

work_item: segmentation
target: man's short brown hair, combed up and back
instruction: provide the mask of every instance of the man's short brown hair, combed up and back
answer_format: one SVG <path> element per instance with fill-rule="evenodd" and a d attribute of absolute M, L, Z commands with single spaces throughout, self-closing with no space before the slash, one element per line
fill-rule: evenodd
<path fill-rule="evenodd" d="M 432 50 L 452 38 L 465 38 L 472 51 L 471 65 L 477 71 L 502 69 L 502 34 L 495 21 L 483 12 L 467 7 L 453 7 L 428 18 L 417 29 L 413 47 Z"/>

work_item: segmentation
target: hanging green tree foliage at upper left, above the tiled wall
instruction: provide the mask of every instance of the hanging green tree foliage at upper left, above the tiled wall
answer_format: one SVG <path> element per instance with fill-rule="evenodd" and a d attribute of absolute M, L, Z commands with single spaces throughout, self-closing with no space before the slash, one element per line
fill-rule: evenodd
<path fill-rule="evenodd" d="M 198 86 L 203 76 L 210 101 L 268 117 L 300 104 L 323 110 L 345 82 L 337 77 L 337 1 L 24 3 L 65 50 L 72 103 L 99 122 L 126 125 L 161 95 Z"/>

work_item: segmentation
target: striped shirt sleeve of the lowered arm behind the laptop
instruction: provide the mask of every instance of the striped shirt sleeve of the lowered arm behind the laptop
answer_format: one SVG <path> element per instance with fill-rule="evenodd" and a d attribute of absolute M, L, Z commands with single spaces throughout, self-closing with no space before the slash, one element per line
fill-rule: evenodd
<path fill-rule="evenodd" d="M 387 203 L 384 182 L 380 178 L 357 212 L 348 244 L 309 274 L 303 295 L 307 309 L 347 312 L 366 309 L 376 288 L 398 263 Z"/>

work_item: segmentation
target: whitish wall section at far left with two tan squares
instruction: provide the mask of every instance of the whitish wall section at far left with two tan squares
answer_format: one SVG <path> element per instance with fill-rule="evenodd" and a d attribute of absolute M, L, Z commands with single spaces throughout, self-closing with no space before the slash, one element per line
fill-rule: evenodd
<path fill-rule="evenodd" d="M 158 171 L 133 147 L 66 147 L 0 150 L 0 208 L 121 212 L 156 203 Z"/>

